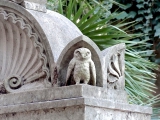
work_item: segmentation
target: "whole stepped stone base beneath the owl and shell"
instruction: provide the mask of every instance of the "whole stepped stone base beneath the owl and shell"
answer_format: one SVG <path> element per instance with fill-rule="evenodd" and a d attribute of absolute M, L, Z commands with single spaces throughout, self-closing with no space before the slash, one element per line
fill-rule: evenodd
<path fill-rule="evenodd" d="M 108 100 L 106 95 L 103 88 L 88 85 L 1 95 L 0 119 L 150 120 L 151 108 Z"/>

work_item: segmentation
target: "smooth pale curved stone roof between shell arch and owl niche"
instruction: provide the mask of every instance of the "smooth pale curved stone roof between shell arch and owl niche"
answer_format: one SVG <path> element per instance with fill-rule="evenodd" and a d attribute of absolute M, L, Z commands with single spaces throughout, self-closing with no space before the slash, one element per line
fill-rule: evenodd
<path fill-rule="evenodd" d="M 38 22 L 36 25 L 40 25 L 41 29 L 43 29 L 42 35 L 45 34 L 43 38 L 48 39 L 47 48 L 51 49 L 54 62 L 57 62 L 61 52 L 69 42 L 82 35 L 76 25 L 57 12 L 50 10 L 47 10 L 47 13 L 27 11 L 36 19 L 31 19 L 32 22 Z"/>

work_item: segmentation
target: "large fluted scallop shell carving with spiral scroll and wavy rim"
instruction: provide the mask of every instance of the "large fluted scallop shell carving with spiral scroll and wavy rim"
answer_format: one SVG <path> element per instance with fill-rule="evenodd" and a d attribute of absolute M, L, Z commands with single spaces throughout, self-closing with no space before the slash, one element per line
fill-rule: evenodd
<path fill-rule="evenodd" d="M 0 8 L 0 82 L 7 92 L 49 78 L 47 58 L 37 34 L 14 13 Z"/>

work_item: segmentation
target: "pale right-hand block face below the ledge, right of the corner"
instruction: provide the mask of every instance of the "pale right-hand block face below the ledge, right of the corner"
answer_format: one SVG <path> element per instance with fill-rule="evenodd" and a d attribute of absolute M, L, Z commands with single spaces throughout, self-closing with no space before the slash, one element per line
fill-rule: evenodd
<path fill-rule="evenodd" d="M 85 107 L 86 115 L 84 120 L 150 120 L 149 114 L 124 112 L 92 106 Z"/>

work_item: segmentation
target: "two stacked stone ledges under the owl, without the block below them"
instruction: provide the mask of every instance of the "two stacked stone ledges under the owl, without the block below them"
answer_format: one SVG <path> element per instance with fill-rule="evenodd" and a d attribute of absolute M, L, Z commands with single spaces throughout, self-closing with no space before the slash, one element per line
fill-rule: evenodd
<path fill-rule="evenodd" d="M 90 85 L 53 87 L 1 95 L 0 114 L 75 106 L 91 106 L 128 113 L 152 114 L 152 108 L 150 107 L 129 105 L 127 102 L 124 102 L 127 101 L 126 97 L 124 91 L 107 91 L 107 89 L 102 87 Z"/>

